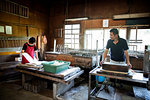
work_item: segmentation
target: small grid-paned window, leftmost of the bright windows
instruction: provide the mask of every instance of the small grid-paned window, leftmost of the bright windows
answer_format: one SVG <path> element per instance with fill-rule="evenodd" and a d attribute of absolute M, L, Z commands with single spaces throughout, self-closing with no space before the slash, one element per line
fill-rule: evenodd
<path fill-rule="evenodd" d="M 79 49 L 80 24 L 65 25 L 65 47 Z"/>

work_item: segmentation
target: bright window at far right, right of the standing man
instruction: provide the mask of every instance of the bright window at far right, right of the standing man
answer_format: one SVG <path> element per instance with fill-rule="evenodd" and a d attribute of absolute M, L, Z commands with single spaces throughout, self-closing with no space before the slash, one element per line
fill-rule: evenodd
<path fill-rule="evenodd" d="M 144 52 L 145 45 L 150 45 L 150 29 L 131 29 L 129 50 Z"/>

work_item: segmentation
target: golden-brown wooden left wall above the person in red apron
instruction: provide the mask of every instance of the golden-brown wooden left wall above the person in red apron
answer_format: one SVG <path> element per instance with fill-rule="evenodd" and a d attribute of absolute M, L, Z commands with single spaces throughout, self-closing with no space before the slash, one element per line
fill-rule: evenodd
<path fill-rule="evenodd" d="M 40 0 L 13 0 L 13 2 L 29 8 L 29 18 L 0 12 L 0 25 L 11 25 L 12 35 L 1 33 L 0 36 L 36 37 L 48 33 L 49 8 Z M 41 10 L 39 10 L 41 9 Z"/>

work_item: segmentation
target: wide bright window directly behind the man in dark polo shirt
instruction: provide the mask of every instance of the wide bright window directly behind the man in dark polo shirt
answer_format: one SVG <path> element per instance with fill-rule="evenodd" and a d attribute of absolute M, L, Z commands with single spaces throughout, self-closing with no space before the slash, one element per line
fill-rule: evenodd
<path fill-rule="evenodd" d="M 98 49 L 103 49 L 110 39 L 110 29 L 86 30 L 84 36 L 84 49 L 96 50 L 96 41 L 98 40 Z M 119 36 L 126 39 L 126 29 L 118 29 Z"/>

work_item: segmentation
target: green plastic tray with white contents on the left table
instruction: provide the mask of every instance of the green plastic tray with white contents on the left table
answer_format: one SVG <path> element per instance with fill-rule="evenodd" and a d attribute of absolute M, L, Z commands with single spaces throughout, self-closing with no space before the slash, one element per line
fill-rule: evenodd
<path fill-rule="evenodd" d="M 61 65 L 53 65 L 55 63 L 55 61 L 57 61 L 59 63 L 62 63 L 62 62 L 64 62 L 64 63 Z M 42 63 L 42 65 L 44 67 L 45 72 L 59 73 L 61 71 L 68 69 L 70 62 L 54 60 L 54 61 L 50 61 L 50 62 L 44 62 L 44 63 Z"/>

